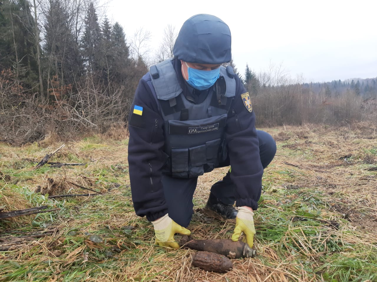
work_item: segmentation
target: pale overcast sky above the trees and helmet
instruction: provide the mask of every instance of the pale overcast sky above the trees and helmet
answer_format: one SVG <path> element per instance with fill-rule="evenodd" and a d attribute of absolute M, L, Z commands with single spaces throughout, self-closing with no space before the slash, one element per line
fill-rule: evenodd
<path fill-rule="evenodd" d="M 331 81 L 377 77 L 377 1 L 110 0 L 107 16 L 127 37 L 143 27 L 158 48 L 164 28 L 177 31 L 195 14 L 221 18 L 232 34 L 233 61 L 241 74 L 271 65 L 292 78 Z"/>

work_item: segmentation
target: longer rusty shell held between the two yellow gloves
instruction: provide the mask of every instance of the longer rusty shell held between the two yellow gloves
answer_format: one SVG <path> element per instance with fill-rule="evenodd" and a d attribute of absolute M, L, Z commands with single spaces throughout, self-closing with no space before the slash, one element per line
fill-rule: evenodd
<path fill-rule="evenodd" d="M 189 236 L 182 236 L 179 244 L 197 251 L 222 254 L 231 259 L 253 257 L 256 254 L 256 251 L 250 248 L 248 244 L 242 241 L 233 242 L 231 239 L 195 240 L 189 238 Z"/>

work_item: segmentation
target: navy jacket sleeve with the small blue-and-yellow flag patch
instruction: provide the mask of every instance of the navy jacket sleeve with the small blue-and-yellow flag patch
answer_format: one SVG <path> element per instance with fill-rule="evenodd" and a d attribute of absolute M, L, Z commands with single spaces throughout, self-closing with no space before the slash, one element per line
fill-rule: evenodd
<path fill-rule="evenodd" d="M 162 151 L 163 119 L 147 80 L 148 75 L 145 75 L 139 81 L 131 106 L 128 162 L 136 215 L 147 216 L 149 221 L 153 221 L 167 213 L 161 182 L 161 168 L 167 155 Z M 142 115 L 133 113 L 135 105 L 143 107 Z"/>

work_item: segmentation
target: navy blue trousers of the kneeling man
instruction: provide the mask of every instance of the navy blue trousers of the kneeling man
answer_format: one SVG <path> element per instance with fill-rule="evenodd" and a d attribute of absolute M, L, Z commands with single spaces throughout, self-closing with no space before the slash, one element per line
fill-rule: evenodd
<path fill-rule="evenodd" d="M 262 130 L 257 130 L 259 139 L 259 155 L 263 168 L 267 167 L 276 153 L 276 143 L 270 134 Z M 219 164 L 218 167 L 229 166 L 229 158 Z M 173 178 L 162 175 L 162 185 L 164 189 L 168 213 L 170 218 L 183 227 L 187 227 L 193 215 L 193 195 L 196 189 L 198 178 Z M 235 202 L 234 190 L 236 189 L 228 172 L 221 181 L 216 182 L 211 187 L 211 194 L 216 196 L 221 202 L 233 205 Z"/>

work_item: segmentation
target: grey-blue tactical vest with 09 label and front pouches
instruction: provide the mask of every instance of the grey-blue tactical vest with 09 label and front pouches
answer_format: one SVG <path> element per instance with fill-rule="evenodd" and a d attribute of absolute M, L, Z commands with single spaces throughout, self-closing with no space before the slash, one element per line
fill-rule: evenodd
<path fill-rule="evenodd" d="M 227 157 L 224 140 L 230 104 L 236 92 L 233 69 L 220 67 L 220 78 L 200 104 L 188 101 L 172 59 L 150 68 L 152 92 L 164 118 L 165 153 L 162 173 L 192 178 L 210 172 Z M 150 86 L 152 86 L 150 85 Z"/>

